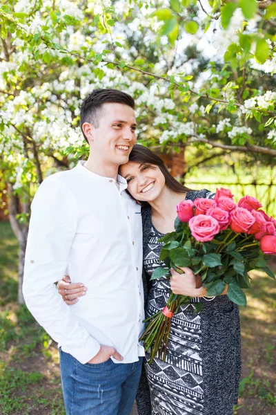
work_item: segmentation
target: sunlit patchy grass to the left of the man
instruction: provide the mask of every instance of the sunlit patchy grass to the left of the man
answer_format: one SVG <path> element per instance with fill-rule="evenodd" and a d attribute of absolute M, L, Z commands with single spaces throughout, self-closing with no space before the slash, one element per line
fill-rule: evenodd
<path fill-rule="evenodd" d="M 57 346 L 17 304 L 17 240 L 0 235 L 0 414 L 63 415 Z"/>

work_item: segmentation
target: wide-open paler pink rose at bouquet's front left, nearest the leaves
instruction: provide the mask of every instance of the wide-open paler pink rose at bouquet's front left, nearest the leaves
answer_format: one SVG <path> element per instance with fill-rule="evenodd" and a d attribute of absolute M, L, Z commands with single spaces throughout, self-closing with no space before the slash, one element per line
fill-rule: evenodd
<path fill-rule="evenodd" d="M 217 219 L 205 214 L 199 214 L 190 219 L 189 227 L 193 237 L 200 242 L 212 241 L 220 230 Z"/>

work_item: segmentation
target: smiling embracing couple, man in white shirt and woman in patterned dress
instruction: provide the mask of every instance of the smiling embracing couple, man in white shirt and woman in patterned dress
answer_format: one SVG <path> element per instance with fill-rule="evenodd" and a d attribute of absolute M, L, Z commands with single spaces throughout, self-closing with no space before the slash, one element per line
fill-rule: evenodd
<path fill-rule="evenodd" d="M 34 197 L 26 304 L 59 342 L 66 414 L 130 415 L 136 395 L 139 415 L 232 415 L 241 369 L 237 306 L 226 295 L 205 297 L 189 268 L 150 286 L 175 206 L 212 194 L 181 186 L 157 155 L 135 145 L 134 108 L 130 95 L 112 89 L 83 101 L 90 156 L 46 178 Z M 72 281 L 59 283 L 65 302 L 54 284 L 64 274 Z M 149 365 L 139 343 L 144 306 L 147 317 L 157 313 L 170 288 L 194 299 L 172 317 L 165 362 Z M 199 314 L 194 302 L 203 302 Z"/>

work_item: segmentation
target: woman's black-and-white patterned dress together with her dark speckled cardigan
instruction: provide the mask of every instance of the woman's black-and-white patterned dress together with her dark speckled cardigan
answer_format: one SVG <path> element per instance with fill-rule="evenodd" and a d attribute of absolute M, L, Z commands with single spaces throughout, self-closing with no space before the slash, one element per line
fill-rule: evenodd
<path fill-rule="evenodd" d="M 208 190 L 190 191 L 186 199 L 210 197 Z M 151 223 L 150 207 L 142 210 L 146 315 L 166 306 L 170 282 L 150 275 L 160 266 L 162 236 Z M 195 299 L 172 317 L 166 361 L 155 358 L 143 372 L 136 401 L 139 415 L 233 415 L 241 374 L 239 308 L 227 295 Z"/>

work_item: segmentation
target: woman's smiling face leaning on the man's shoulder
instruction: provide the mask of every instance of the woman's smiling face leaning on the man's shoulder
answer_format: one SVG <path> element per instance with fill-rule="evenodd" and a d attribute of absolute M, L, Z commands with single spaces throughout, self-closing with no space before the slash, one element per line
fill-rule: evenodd
<path fill-rule="evenodd" d="M 120 166 L 120 174 L 128 182 L 128 192 L 137 201 L 155 201 L 164 190 L 165 178 L 157 165 L 129 161 Z"/>

